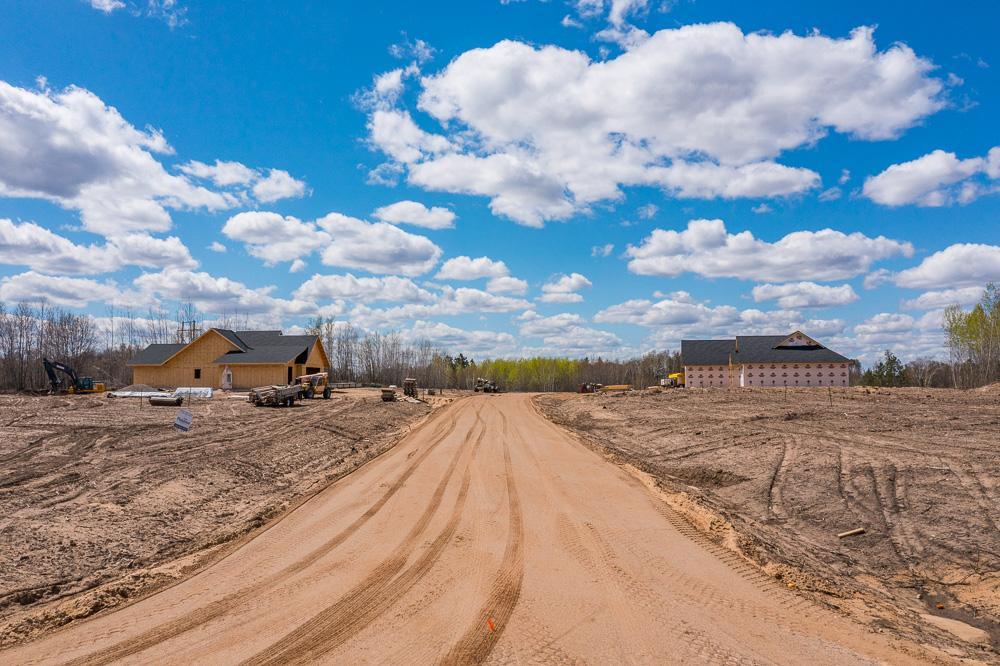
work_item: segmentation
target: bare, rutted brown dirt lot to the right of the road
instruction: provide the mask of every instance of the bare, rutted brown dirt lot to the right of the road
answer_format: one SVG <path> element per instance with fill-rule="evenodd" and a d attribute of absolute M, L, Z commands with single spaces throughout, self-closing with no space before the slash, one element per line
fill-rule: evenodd
<path fill-rule="evenodd" d="M 790 587 L 876 630 L 996 658 L 997 387 L 681 389 L 536 404 L 652 475 L 669 503 Z M 836 536 L 857 527 L 866 533 Z"/>

